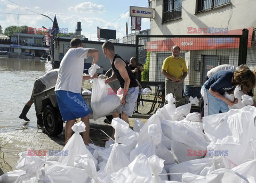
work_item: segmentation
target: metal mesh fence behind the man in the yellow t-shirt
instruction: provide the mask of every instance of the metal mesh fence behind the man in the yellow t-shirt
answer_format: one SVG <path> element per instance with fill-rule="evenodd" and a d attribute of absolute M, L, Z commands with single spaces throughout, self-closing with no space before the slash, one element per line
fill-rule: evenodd
<path fill-rule="evenodd" d="M 146 44 L 139 46 L 142 40 Z M 159 85 L 164 85 L 162 65 L 166 57 L 172 55 L 171 47 L 181 48 L 180 56 L 186 60 L 188 76 L 183 83 L 183 96 L 201 98 L 200 90 L 204 84 L 207 71 L 221 64 L 238 66 L 246 64 L 250 69 L 256 68 L 255 41 L 248 38 L 248 31 L 243 35 L 195 35 L 195 36 L 143 36 L 136 37 L 137 60 L 143 60 L 149 55 L 148 81 L 142 81 L 143 86 L 151 87 L 151 95 L 142 96 L 142 101 L 161 103 Z M 142 52 L 143 51 L 143 52 Z M 248 55 L 248 56 L 247 56 Z"/>

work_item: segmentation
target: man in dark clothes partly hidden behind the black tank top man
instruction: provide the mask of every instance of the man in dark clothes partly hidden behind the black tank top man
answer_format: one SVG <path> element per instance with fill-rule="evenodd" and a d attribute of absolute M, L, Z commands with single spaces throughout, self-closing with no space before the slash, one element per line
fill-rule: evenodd
<path fill-rule="evenodd" d="M 136 73 L 138 73 L 138 81 L 140 82 L 141 81 L 141 72 L 144 70 L 143 65 L 141 63 L 138 63 L 138 66 L 137 66 L 137 61 L 136 61 L 135 57 L 131 57 L 130 64 L 128 66 L 131 69 L 135 78 L 136 78 Z M 139 87 L 139 91 L 141 91 L 141 87 Z M 134 111 L 134 114 L 139 114 L 138 108 L 139 108 L 139 103 L 140 103 L 140 93 L 141 92 L 139 92 L 138 99 L 137 99 L 137 111 Z"/>

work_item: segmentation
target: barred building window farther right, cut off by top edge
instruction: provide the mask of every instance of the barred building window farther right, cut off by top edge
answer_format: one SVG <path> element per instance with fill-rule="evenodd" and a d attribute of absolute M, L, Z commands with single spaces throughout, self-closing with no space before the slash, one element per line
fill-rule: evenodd
<path fill-rule="evenodd" d="M 214 7 L 229 4 L 231 0 L 198 0 L 197 13 L 211 10 Z"/>

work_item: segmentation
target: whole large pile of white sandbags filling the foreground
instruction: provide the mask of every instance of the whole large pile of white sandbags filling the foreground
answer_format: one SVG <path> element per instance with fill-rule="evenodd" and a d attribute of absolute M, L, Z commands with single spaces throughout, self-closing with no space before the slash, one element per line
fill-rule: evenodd
<path fill-rule="evenodd" d="M 113 119 L 115 140 L 106 146 L 85 146 L 79 132 L 63 151 L 68 156 L 27 156 L 0 182 L 256 182 L 256 108 L 246 106 L 203 118 L 189 113 L 191 103 L 175 109 L 169 101 L 134 130 Z M 204 130 L 204 132 L 203 132 Z M 205 133 L 205 134 L 204 134 Z"/>

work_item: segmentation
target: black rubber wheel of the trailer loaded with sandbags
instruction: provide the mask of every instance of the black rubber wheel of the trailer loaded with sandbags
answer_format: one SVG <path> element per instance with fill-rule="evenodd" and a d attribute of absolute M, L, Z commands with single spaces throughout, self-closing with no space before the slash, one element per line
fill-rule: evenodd
<path fill-rule="evenodd" d="M 43 123 L 47 134 L 50 136 L 57 136 L 63 130 L 63 121 L 58 120 L 57 112 L 50 105 L 44 109 Z"/>

